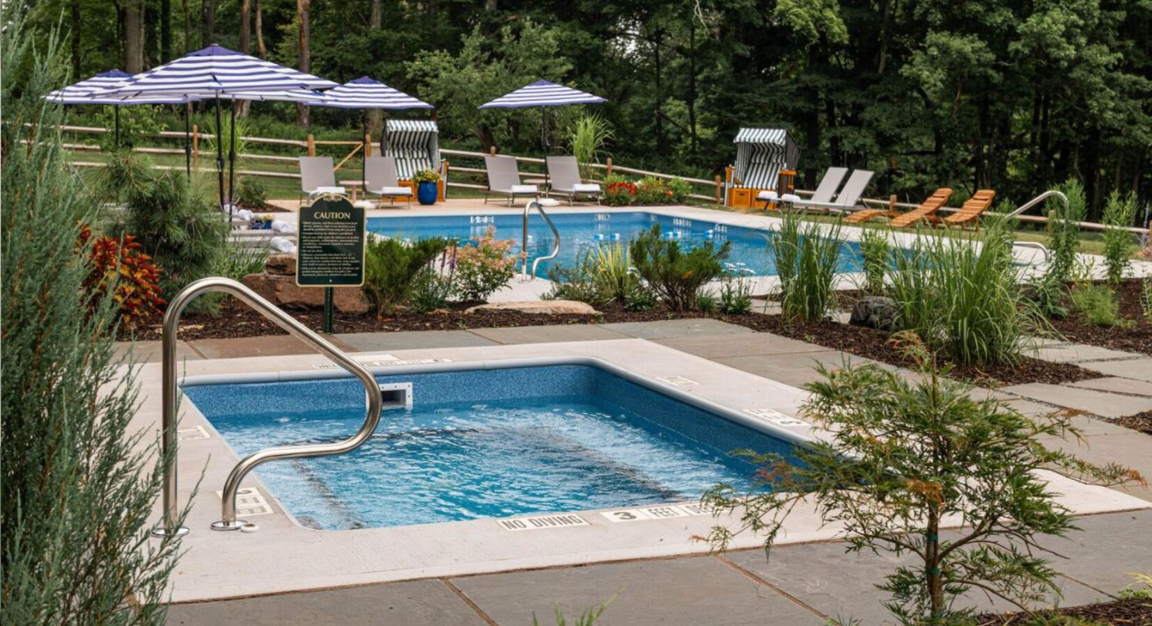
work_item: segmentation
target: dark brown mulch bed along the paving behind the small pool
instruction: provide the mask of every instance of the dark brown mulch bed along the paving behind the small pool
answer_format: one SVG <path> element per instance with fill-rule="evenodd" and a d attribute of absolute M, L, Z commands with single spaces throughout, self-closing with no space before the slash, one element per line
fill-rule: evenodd
<path fill-rule="evenodd" d="M 339 313 L 333 322 L 335 333 L 395 333 L 400 330 L 458 330 L 467 328 L 507 328 L 522 326 L 548 326 L 563 323 L 647 322 L 657 320 L 712 318 L 720 321 L 774 333 L 833 350 L 842 350 L 896 366 L 911 367 L 914 362 L 889 343 L 889 334 L 882 330 L 842 325 L 835 321 L 820 323 L 786 323 L 779 315 L 723 315 L 698 312 L 673 312 L 664 310 L 634 312 L 620 306 L 601 307 L 600 315 L 556 314 L 541 315 L 518 312 L 464 313 L 468 304 L 453 304 L 450 308 L 435 313 L 400 312 L 393 316 L 378 318 L 365 313 L 353 315 Z M 291 311 L 297 320 L 314 330 L 323 326 L 319 311 Z M 257 337 L 282 335 L 278 326 L 263 315 L 235 300 L 226 300 L 218 316 L 185 313 L 181 319 L 181 339 Z M 160 338 L 160 322 L 143 325 L 135 336 L 121 331 L 121 341 L 135 338 L 149 341 Z M 1054 364 L 1031 358 L 1021 359 L 1014 366 L 956 366 L 953 376 L 982 384 L 1016 384 L 1024 382 L 1061 383 L 1097 377 L 1097 374 L 1069 364 Z"/>

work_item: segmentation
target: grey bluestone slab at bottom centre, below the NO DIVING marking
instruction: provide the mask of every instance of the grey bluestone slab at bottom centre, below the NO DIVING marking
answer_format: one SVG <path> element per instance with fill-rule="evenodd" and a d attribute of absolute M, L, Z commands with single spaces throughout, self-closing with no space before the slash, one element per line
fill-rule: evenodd
<path fill-rule="evenodd" d="M 641 560 L 452 579 L 498 624 L 569 623 L 615 596 L 597 625 L 823 624 L 796 602 L 712 557 Z"/>

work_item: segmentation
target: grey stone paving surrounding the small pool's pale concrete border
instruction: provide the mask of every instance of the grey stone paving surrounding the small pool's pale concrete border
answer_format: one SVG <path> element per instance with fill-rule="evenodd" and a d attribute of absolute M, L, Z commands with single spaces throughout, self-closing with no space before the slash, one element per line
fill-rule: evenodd
<path fill-rule="evenodd" d="M 714 320 L 669 320 L 604 326 L 545 326 L 452 331 L 350 334 L 332 337 L 349 351 L 414 348 L 482 346 L 637 337 L 696 357 L 788 384 L 816 379 L 813 362 L 839 365 L 849 357 L 834 350 L 751 333 Z M 135 354 L 154 361 L 158 342 L 137 344 Z M 181 342 L 182 359 L 222 359 L 253 354 L 306 353 L 288 336 Z M 1152 358 L 1113 353 L 1090 346 L 1049 345 L 1041 358 L 1078 362 L 1101 376 L 1064 385 L 1025 384 L 985 390 L 1028 414 L 1058 407 L 1120 415 L 1152 407 Z M 1117 461 L 1152 475 L 1152 440 L 1091 415 L 1077 418 L 1085 437 L 1075 451 L 1090 460 Z M 1152 502 L 1146 487 L 1120 489 Z M 1049 547 L 1063 572 L 1064 605 L 1105 598 L 1132 585 L 1128 572 L 1146 572 L 1152 563 L 1152 510 L 1086 516 L 1084 529 Z M 782 545 L 770 562 L 761 550 L 721 556 L 691 556 L 555 567 L 520 572 L 317 590 L 222 602 L 175 604 L 169 624 L 553 624 L 554 605 L 571 621 L 585 609 L 609 598 L 598 624 L 823 624 L 828 618 L 857 618 L 863 624 L 889 621 L 885 595 L 872 587 L 890 571 L 887 557 L 843 554 L 844 544 L 824 542 Z M 1005 609 L 983 596 L 970 598 L 982 609 Z"/>

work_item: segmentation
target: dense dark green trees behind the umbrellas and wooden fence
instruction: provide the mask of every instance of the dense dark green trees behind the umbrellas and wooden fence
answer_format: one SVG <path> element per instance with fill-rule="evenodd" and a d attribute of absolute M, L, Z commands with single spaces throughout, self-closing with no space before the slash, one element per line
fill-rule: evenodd
<path fill-rule="evenodd" d="M 188 0 L 188 28 L 172 0 L 43 0 L 30 15 L 46 30 L 78 8 L 74 74 L 86 77 L 124 66 L 121 5 L 143 8 L 144 67 L 240 47 L 237 0 Z M 259 6 L 268 58 L 295 66 L 297 2 Z M 1113 189 L 1149 198 L 1145 0 L 312 0 L 310 24 L 313 72 L 433 102 L 441 142 L 462 147 L 538 153 L 538 110 L 475 107 L 545 78 L 608 98 L 596 108 L 617 163 L 710 177 L 734 160 L 738 127 L 768 125 L 799 143 L 809 189 L 841 165 L 878 171 L 873 191 L 902 199 L 948 185 L 956 200 L 990 188 L 1018 204 L 1070 176 L 1092 219 Z M 294 105 L 252 109 L 256 133 L 302 132 Z M 359 121 L 312 110 L 321 130 Z"/>

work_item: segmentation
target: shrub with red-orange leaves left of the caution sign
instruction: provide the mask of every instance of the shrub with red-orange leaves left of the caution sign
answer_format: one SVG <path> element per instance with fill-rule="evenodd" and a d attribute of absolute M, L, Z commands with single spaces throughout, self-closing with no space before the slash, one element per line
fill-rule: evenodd
<path fill-rule="evenodd" d="M 92 229 L 81 229 L 77 251 L 92 238 Z M 97 306 L 101 297 L 112 289 L 112 298 L 120 306 L 120 319 L 126 326 L 136 326 L 160 312 L 165 305 L 160 297 L 160 269 L 152 257 L 139 252 L 136 237 L 124 235 L 123 241 L 99 237 L 92 242 L 88 253 L 90 265 L 84 281 L 85 303 L 89 308 Z"/>

